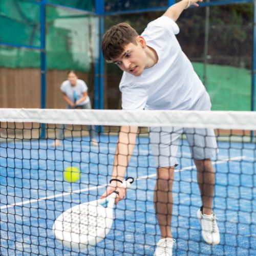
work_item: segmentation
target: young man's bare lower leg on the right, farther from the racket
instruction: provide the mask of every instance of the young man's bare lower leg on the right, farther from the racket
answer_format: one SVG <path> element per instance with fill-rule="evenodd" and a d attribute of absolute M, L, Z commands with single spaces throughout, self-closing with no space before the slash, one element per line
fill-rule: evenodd
<path fill-rule="evenodd" d="M 212 214 L 212 200 L 214 198 L 215 172 L 210 158 L 196 160 L 197 181 L 203 204 L 203 214 Z"/>

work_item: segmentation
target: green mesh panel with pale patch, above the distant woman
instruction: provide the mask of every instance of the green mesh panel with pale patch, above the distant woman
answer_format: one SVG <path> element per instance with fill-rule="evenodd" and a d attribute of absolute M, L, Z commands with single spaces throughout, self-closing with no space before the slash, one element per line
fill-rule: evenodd
<path fill-rule="evenodd" d="M 48 69 L 89 70 L 95 47 L 94 20 L 79 11 L 47 7 Z"/>

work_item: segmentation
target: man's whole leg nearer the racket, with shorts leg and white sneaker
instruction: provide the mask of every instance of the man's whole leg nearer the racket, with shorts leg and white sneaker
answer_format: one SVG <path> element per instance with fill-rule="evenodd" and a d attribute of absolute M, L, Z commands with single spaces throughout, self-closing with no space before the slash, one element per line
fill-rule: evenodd
<path fill-rule="evenodd" d="M 172 255 L 175 240 L 170 229 L 173 213 L 174 167 L 179 138 L 183 129 L 180 127 L 151 127 L 150 139 L 152 154 L 157 168 L 157 181 L 154 193 L 156 217 L 161 232 L 154 256 Z"/>

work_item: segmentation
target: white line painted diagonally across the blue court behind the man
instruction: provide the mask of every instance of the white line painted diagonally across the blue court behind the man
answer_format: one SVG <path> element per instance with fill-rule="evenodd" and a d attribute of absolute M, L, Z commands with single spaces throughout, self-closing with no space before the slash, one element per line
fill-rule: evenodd
<path fill-rule="evenodd" d="M 235 161 L 235 160 L 242 160 L 242 159 L 245 159 L 245 158 L 246 158 L 245 156 L 239 156 L 239 157 L 233 157 L 233 158 L 230 158 L 230 159 L 223 159 L 223 160 L 219 160 L 219 161 L 214 162 L 214 165 L 225 163 L 225 162 L 231 162 L 231 161 Z M 184 167 L 184 168 L 176 169 L 175 173 L 183 172 L 183 170 L 188 170 L 188 169 L 193 169 L 193 168 L 196 168 L 196 166 L 191 165 L 191 166 L 187 166 L 187 167 Z M 156 176 L 156 174 L 145 175 L 145 176 L 141 176 L 139 178 L 136 178 L 135 180 L 143 180 L 143 179 L 147 179 L 147 178 L 151 178 L 151 177 L 155 177 L 155 176 Z M 14 204 L 3 205 L 3 206 L 0 207 L 0 209 L 6 209 L 6 208 L 18 206 L 18 205 L 31 204 L 31 203 L 35 203 L 35 202 L 39 202 L 39 201 L 43 201 L 43 200 L 68 196 L 68 195 L 72 195 L 72 194 L 76 194 L 76 193 L 79 194 L 79 193 L 84 192 L 84 191 L 89 191 L 89 190 L 95 190 L 95 189 L 98 189 L 98 188 L 102 188 L 102 187 L 105 187 L 106 185 L 108 185 L 108 184 L 104 184 L 104 185 L 101 185 L 101 186 L 89 187 L 89 188 L 83 188 L 83 189 L 77 189 L 77 190 L 74 190 L 72 192 L 66 192 L 66 193 L 61 193 L 61 194 L 57 194 L 57 195 L 52 195 L 52 196 L 49 196 L 49 197 L 42 197 L 42 198 L 39 198 L 39 199 L 32 199 L 32 200 L 22 201 L 22 202 L 14 203 Z"/>

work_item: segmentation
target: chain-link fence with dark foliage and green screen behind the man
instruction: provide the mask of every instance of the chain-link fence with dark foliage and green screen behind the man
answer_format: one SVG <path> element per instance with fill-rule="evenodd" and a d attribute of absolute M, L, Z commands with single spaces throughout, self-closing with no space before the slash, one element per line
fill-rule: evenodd
<path fill-rule="evenodd" d="M 177 24 L 182 50 L 210 94 L 213 110 L 250 110 L 253 47 L 253 5 L 209 7 L 185 10 Z M 105 29 L 119 22 L 131 24 L 142 33 L 147 23 L 163 12 L 112 15 Z M 207 20 L 208 19 L 208 20 Z M 207 25 L 208 24 L 208 25 Z M 105 108 L 120 108 L 118 88 L 122 72 L 106 65 Z"/>

